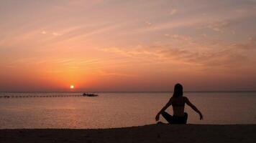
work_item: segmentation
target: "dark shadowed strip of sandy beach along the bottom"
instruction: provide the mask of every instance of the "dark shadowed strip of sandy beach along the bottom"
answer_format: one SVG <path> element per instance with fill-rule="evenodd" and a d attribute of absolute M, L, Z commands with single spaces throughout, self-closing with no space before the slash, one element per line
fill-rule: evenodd
<path fill-rule="evenodd" d="M 0 142 L 256 142 L 256 124 L 150 124 L 115 129 L 0 129 Z"/>

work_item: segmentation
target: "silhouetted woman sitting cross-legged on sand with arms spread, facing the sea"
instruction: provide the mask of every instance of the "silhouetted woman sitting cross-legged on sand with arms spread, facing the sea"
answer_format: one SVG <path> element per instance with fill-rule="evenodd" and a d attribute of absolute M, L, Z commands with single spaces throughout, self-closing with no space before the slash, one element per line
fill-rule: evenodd
<path fill-rule="evenodd" d="M 183 97 L 183 87 L 181 84 L 175 84 L 173 97 L 170 98 L 169 102 L 157 113 L 155 120 L 158 121 L 160 114 L 170 123 L 170 124 L 186 124 L 188 119 L 188 114 L 184 112 L 185 103 L 188 104 L 195 112 L 203 119 L 203 114 L 191 103 L 187 97 Z M 165 109 L 173 106 L 173 116 L 165 112 Z"/>

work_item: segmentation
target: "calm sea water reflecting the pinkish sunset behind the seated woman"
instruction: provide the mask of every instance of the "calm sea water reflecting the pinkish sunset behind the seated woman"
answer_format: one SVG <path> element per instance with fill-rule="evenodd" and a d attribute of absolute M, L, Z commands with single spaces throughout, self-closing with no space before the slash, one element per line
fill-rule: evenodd
<path fill-rule="evenodd" d="M 6 93 L 0 96 L 80 95 Z M 155 114 L 172 93 L 99 93 L 99 97 L 0 98 L 0 129 L 111 128 L 155 123 Z M 256 124 L 256 92 L 186 92 L 204 114 L 186 106 L 190 124 Z M 172 114 L 172 107 L 167 109 Z M 165 122 L 163 118 L 160 118 Z"/>

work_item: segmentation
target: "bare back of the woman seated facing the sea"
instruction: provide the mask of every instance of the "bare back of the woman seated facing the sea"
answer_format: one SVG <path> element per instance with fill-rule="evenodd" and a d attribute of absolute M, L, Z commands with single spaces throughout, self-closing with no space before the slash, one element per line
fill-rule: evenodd
<path fill-rule="evenodd" d="M 173 106 L 173 115 L 177 117 L 183 117 L 184 116 L 184 108 L 185 108 L 185 102 L 186 97 L 172 97 L 171 98 L 171 104 Z"/>

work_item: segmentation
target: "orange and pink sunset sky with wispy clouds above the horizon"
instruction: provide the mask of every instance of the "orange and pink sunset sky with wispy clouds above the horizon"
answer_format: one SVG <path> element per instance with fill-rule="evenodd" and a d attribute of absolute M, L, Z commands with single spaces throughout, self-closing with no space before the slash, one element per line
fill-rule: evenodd
<path fill-rule="evenodd" d="M 0 0 L 0 92 L 256 90 L 255 25 L 255 0 Z"/>

